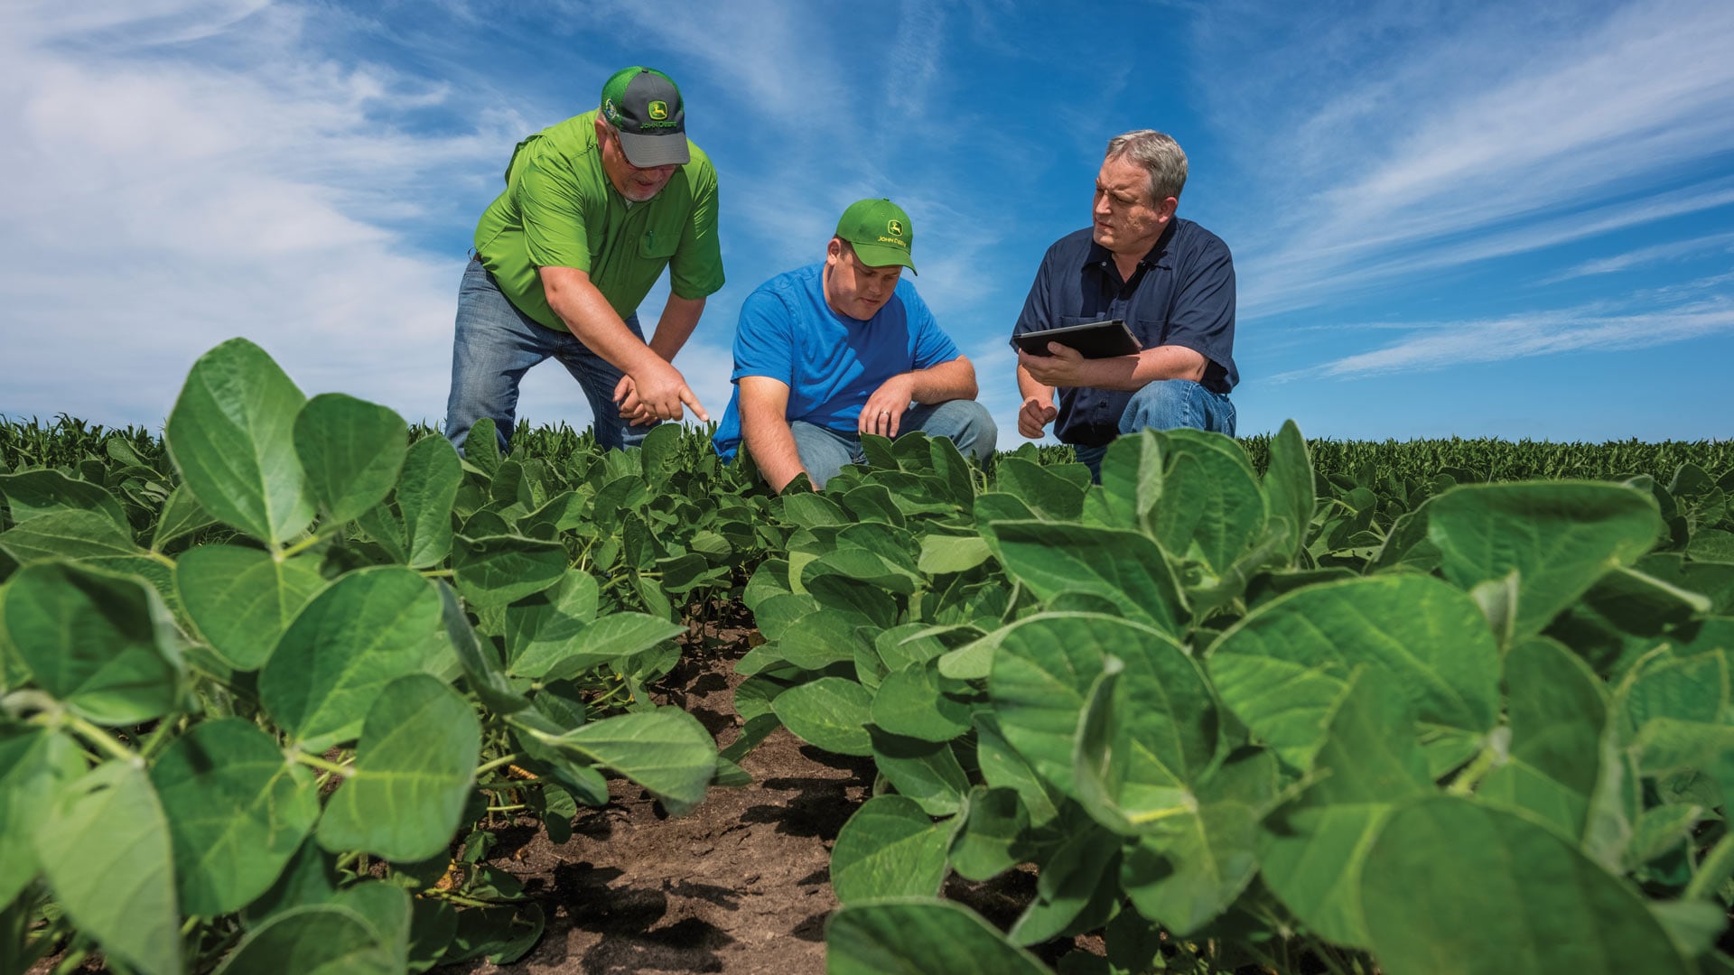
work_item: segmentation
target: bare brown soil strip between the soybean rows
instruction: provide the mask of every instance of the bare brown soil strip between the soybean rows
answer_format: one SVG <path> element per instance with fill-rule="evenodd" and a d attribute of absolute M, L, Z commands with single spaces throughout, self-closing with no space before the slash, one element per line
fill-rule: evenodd
<path fill-rule="evenodd" d="M 697 717 L 720 748 L 740 734 L 733 661 L 749 637 L 739 625 L 709 626 L 662 682 L 668 703 Z M 838 907 L 831 843 L 867 800 L 872 760 L 829 755 L 779 729 L 740 767 L 753 784 L 713 786 L 681 817 L 616 779 L 614 802 L 581 810 L 567 843 L 534 826 L 501 833 L 491 862 L 525 883 L 548 928 L 513 965 L 439 972 L 824 972 L 825 916 Z"/>

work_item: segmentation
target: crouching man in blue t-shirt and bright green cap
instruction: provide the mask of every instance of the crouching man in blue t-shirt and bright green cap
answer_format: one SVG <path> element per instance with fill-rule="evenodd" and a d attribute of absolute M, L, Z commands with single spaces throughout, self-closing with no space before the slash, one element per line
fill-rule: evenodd
<path fill-rule="evenodd" d="M 799 474 L 824 488 L 846 463 L 865 463 L 862 434 L 922 430 L 976 460 L 999 430 L 975 401 L 975 366 L 902 281 L 916 239 L 890 200 L 843 212 L 824 264 L 779 274 L 740 305 L 735 396 L 713 444 L 725 460 L 746 442 L 759 474 L 782 491 Z"/>

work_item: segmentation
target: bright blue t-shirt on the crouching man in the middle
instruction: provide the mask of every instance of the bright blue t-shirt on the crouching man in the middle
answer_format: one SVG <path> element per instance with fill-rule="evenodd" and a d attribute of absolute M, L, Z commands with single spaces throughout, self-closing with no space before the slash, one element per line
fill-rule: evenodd
<path fill-rule="evenodd" d="M 900 279 L 891 300 L 867 321 L 825 304 L 824 262 L 779 274 L 740 305 L 735 326 L 735 394 L 711 437 L 723 460 L 740 446 L 740 376 L 768 376 L 789 387 L 789 422 L 843 434 L 860 429 L 867 397 L 884 380 L 957 359 L 916 286 Z"/>

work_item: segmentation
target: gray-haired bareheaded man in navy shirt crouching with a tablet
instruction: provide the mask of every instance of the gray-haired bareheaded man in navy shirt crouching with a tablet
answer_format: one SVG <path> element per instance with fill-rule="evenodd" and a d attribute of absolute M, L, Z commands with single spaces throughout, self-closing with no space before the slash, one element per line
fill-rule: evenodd
<path fill-rule="evenodd" d="M 1091 227 L 1047 248 L 1013 330 L 1124 319 L 1143 344 L 1108 359 L 1058 342 L 1047 344 L 1051 356 L 1018 352 L 1018 432 L 1037 439 L 1058 420 L 1054 435 L 1098 479 L 1120 434 L 1235 434 L 1235 262 L 1221 238 L 1174 215 L 1184 186 L 1186 153 L 1174 139 L 1148 128 L 1115 135 Z"/>

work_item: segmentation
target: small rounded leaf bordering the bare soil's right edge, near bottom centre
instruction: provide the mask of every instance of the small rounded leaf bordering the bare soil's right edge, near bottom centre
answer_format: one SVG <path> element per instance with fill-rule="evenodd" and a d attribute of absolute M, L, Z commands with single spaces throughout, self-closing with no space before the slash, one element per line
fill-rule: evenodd
<path fill-rule="evenodd" d="M 916 800 L 870 798 L 838 833 L 831 850 L 831 887 L 843 904 L 931 897 L 945 880 L 948 847 L 948 824 L 933 822 Z"/>

